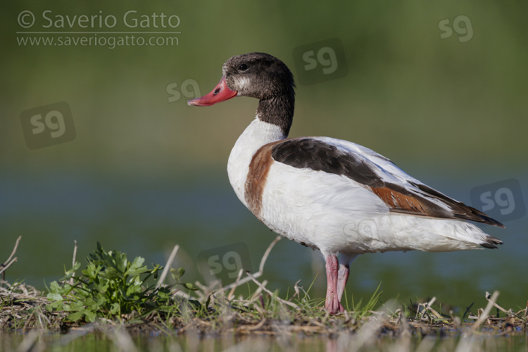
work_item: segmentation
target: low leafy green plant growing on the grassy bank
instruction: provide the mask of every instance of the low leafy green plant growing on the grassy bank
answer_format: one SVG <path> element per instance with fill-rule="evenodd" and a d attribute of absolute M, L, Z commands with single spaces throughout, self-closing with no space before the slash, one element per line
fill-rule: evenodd
<path fill-rule="evenodd" d="M 87 268 L 82 276 L 75 272 L 80 268 L 76 262 L 65 272 L 62 282 L 51 282 L 47 298 L 52 303 L 46 306 L 49 311 L 70 313 L 66 320 L 76 322 L 84 318 L 93 322 L 96 318 L 122 318 L 132 314 L 136 318 L 156 310 L 175 313 L 177 305 L 172 298 L 172 287 L 150 286 L 147 280 L 157 278 L 163 268 L 155 265 L 149 269 L 143 265 L 144 258 L 127 260 L 127 255 L 119 251 L 104 251 L 97 242 L 97 249 L 87 258 Z M 192 284 L 180 282 L 183 268 L 171 270 L 172 277 L 187 289 L 196 289 Z"/>

